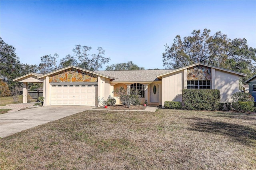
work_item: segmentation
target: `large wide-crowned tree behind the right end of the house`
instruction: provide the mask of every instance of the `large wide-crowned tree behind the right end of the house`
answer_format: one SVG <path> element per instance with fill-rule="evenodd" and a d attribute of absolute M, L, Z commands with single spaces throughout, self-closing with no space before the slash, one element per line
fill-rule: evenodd
<path fill-rule="evenodd" d="M 251 74 L 256 66 L 256 49 L 248 47 L 245 38 L 228 39 L 226 34 L 210 30 L 193 30 L 192 36 L 176 36 L 172 46 L 165 45 L 163 65 L 177 69 L 193 63 L 206 63 L 217 67 Z"/>

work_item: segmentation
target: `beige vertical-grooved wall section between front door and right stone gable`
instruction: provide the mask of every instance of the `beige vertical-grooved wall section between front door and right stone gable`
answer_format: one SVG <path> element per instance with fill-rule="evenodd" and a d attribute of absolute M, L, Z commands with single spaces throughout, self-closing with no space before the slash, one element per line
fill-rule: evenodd
<path fill-rule="evenodd" d="M 184 88 L 184 70 L 162 77 L 162 105 L 165 101 L 182 101 Z"/>

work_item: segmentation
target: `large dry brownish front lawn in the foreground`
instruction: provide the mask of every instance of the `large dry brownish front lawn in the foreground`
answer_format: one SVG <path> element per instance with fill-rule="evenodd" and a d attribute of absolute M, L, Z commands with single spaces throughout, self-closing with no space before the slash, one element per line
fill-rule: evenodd
<path fill-rule="evenodd" d="M 85 111 L 0 139 L 0 169 L 255 169 L 256 115 Z"/>

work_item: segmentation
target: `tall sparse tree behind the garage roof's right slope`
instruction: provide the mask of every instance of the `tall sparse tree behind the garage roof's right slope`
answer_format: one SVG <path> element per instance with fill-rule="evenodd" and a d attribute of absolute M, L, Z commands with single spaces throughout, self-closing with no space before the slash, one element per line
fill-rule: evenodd
<path fill-rule="evenodd" d="M 98 47 L 98 53 L 92 54 L 92 59 L 90 59 L 88 51 L 90 51 L 91 49 L 92 47 L 82 45 L 76 45 L 76 47 L 73 49 L 75 55 L 74 57 L 76 57 L 78 61 L 80 61 L 80 63 L 78 63 L 78 67 L 95 71 L 102 68 L 102 64 L 106 64 L 110 61 L 110 58 L 105 58 L 102 56 L 105 54 L 105 50 L 102 49 L 102 47 Z"/>

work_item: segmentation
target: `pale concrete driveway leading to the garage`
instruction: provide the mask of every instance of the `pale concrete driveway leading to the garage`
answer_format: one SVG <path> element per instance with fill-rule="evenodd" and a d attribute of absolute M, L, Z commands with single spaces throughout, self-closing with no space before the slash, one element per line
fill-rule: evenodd
<path fill-rule="evenodd" d="M 95 107 L 45 106 L 0 115 L 0 137 L 36 127 Z"/>

